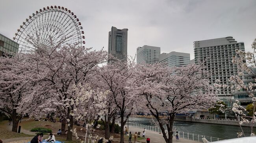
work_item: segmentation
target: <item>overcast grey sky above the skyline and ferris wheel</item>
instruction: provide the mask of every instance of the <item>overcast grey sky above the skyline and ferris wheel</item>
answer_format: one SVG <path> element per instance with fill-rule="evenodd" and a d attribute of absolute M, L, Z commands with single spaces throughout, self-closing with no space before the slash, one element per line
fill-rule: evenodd
<path fill-rule="evenodd" d="M 74 12 L 85 31 L 85 47 L 108 50 L 111 26 L 128 28 L 128 54 L 143 45 L 187 52 L 193 42 L 233 36 L 251 51 L 256 38 L 256 0 L 0 0 L 0 33 L 12 39 L 29 15 L 59 5 Z"/>

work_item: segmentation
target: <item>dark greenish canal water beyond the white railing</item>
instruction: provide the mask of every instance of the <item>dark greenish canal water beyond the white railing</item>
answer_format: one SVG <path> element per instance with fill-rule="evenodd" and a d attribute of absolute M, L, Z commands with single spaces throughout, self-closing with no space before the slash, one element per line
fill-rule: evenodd
<path fill-rule="evenodd" d="M 138 123 L 143 125 L 155 126 L 154 121 L 149 118 L 136 118 L 130 117 L 129 122 Z M 240 127 L 230 126 L 230 125 L 216 125 L 216 124 L 206 124 L 206 123 L 191 123 L 184 121 L 175 121 L 174 128 L 177 128 L 177 131 L 189 132 L 192 134 L 200 134 L 204 136 L 211 136 L 215 138 L 222 139 L 232 139 L 237 138 L 237 132 L 241 132 Z M 250 136 L 250 128 L 243 127 L 246 136 Z M 254 128 L 254 132 L 256 129 Z"/>

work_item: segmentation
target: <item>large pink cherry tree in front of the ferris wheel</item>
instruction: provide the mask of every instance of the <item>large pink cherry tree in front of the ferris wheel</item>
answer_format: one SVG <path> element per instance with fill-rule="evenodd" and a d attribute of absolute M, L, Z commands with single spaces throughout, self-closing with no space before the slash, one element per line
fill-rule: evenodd
<path fill-rule="evenodd" d="M 33 94 L 22 103 L 39 103 L 37 108 L 32 107 L 35 110 L 29 108 L 32 116 L 42 111 L 55 112 L 61 116 L 62 132 L 65 132 L 66 119 L 69 119 L 67 140 L 72 140 L 74 103 L 71 101 L 74 101 L 76 95 L 70 89 L 73 85 L 85 85 L 93 67 L 106 62 L 107 53 L 103 49 L 92 51 L 91 48 L 77 45 L 59 47 L 52 43 L 48 47 L 37 47 L 33 54 L 31 61 L 35 65 L 33 69 L 39 69 L 37 75 L 40 82 L 35 86 Z"/>

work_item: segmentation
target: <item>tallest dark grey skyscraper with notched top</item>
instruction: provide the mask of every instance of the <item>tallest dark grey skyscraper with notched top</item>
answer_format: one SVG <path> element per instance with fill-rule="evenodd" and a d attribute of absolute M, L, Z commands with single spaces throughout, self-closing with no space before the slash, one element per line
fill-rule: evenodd
<path fill-rule="evenodd" d="M 111 27 L 108 33 L 108 54 L 119 60 L 127 60 L 127 34 L 128 29 Z"/>

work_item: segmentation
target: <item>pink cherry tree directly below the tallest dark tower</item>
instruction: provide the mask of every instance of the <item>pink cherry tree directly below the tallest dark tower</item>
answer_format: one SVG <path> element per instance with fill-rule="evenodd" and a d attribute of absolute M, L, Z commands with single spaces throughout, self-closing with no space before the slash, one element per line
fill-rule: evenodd
<path fill-rule="evenodd" d="M 130 86 L 132 85 L 132 78 L 134 72 L 134 60 L 123 62 L 119 60 L 113 60 L 101 67 L 100 69 L 100 81 L 109 90 L 108 104 L 109 107 L 114 105 L 117 107 L 117 113 L 121 118 L 121 137 L 120 143 L 124 143 L 124 125 L 129 116 L 134 112 L 137 97 L 132 94 Z M 114 107 L 110 107 L 113 108 Z M 110 109 L 113 111 L 113 109 Z M 113 112 L 108 113 L 108 119 L 106 122 L 109 123 L 110 116 Z M 107 129 L 106 129 L 107 130 Z"/>

